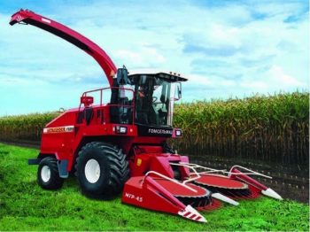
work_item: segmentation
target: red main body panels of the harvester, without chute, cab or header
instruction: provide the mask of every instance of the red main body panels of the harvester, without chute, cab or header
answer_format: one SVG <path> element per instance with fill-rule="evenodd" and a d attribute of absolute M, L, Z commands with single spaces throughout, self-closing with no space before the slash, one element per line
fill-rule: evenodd
<path fill-rule="evenodd" d="M 161 145 L 167 141 L 166 137 L 138 136 L 137 127 L 134 124 L 110 123 L 109 105 L 92 107 L 93 118 L 89 121 L 89 125 L 85 120 L 78 123 L 79 113 L 82 110 L 83 108 L 75 108 L 64 112 L 43 129 L 41 156 L 55 154 L 57 159 L 66 159 L 68 160 L 67 171 L 71 171 L 83 141 L 89 138 L 92 141 L 117 144 L 123 152 L 132 157 L 129 164 L 134 176 L 142 175 L 148 170 L 160 169 L 160 172 L 173 178 L 169 161 L 188 160 L 186 157 L 163 153 Z M 115 130 L 117 126 L 126 127 L 127 134 L 118 134 Z M 141 144 L 150 143 L 151 146 L 141 146 Z M 140 144 L 136 154 L 131 151 L 133 144 Z M 137 159 L 143 160 L 143 166 L 136 166 Z M 182 173 L 186 174 L 186 171 Z"/>

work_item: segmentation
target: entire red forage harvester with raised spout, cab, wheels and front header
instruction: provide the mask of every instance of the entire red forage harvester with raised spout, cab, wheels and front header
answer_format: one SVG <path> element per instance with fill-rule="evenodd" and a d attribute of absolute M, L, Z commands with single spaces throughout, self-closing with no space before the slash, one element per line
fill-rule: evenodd
<path fill-rule="evenodd" d="M 16 23 L 39 27 L 84 50 L 109 83 L 84 92 L 80 105 L 43 128 L 40 153 L 28 160 L 38 165 L 43 189 L 59 189 L 75 174 L 88 197 L 109 199 L 122 191 L 123 203 L 200 222 L 206 220 L 198 211 L 218 208 L 221 201 L 238 205 L 236 199 L 260 194 L 282 199 L 249 176 L 262 174 L 241 166 L 226 172 L 193 165 L 167 145 L 167 139 L 182 137 L 182 129 L 172 127 L 174 101 L 187 81 L 179 73 L 117 69 L 96 43 L 35 12 L 14 13 L 10 24 Z"/>

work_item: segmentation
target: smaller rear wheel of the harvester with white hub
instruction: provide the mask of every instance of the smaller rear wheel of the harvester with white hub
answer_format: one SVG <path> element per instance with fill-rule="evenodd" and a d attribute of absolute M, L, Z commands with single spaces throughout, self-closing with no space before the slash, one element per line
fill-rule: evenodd
<path fill-rule="evenodd" d="M 50 172 L 50 176 L 44 175 L 46 173 L 44 172 L 45 170 Z M 62 187 L 64 179 L 59 176 L 57 159 L 46 157 L 41 160 L 38 167 L 37 180 L 43 189 L 60 189 Z"/>

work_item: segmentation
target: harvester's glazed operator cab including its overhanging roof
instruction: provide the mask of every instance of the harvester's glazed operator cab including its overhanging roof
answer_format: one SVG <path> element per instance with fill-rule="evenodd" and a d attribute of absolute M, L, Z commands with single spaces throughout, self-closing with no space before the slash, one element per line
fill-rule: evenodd
<path fill-rule="evenodd" d="M 135 73 L 128 79 L 135 88 L 136 124 L 171 127 L 174 101 L 186 79 L 173 73 Z"/>

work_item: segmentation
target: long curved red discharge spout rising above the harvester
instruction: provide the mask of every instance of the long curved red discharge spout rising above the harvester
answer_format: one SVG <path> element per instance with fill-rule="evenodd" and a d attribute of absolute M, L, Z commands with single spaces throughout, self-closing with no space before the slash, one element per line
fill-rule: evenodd
<path fill-rule="evenodd" d="M 22 22 L 24 24 L 30 24 L 35 27 L 39 27 L 53 35 L 57 35 L 67 42 L 73 43 L 81 50 L 84 50 L 87 54 L 89 54 L 89 56 L 97 61 L 99 66 L 101 66 L 106 75 L 106 78 L 109 81 L 110 86 L 112 86 L 113 77 L 115 76 L 117 68 L 113 64 L 112 59 L 105 53 L 105 50 L 102 50 L 96 43 L 93 43 L 85 36 L 77 33 L 69 27 L 66 27 L 65 25 L 58 23 L 57 21 L 48 19 L 29 10 L 21 9 L 19 12 L 14 13 L 12 15 L 10 24 L 22 24 Z"/>

